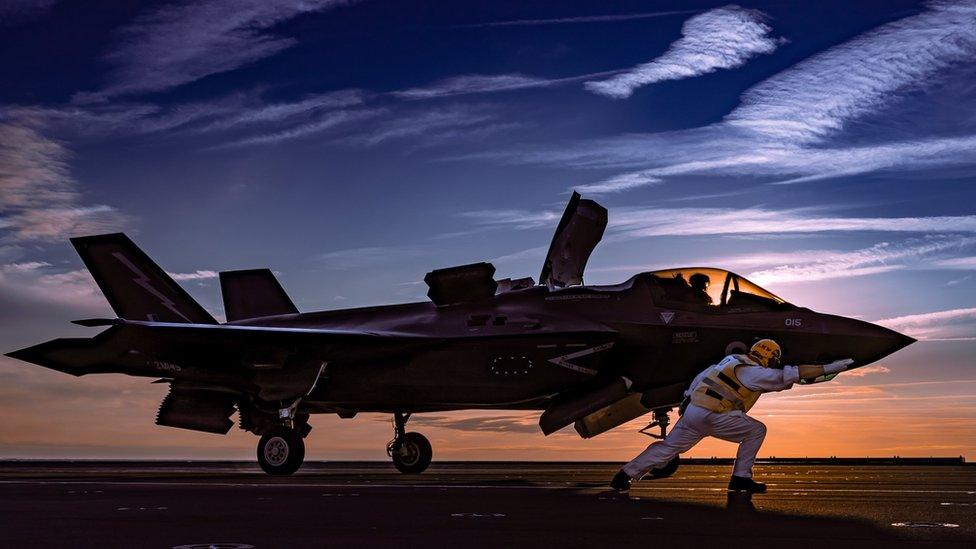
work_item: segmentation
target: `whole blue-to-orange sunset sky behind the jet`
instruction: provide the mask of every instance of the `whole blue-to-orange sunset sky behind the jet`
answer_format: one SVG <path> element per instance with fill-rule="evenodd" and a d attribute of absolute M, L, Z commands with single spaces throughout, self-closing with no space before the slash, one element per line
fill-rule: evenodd
<path fill-rule="evenodd" d="M 920 340 L 763 397 L 760 456 L 976 459 L 976 2 L 0 0 L 0 75 L 4 352 L 112 315 L 71 236 L 125 231 L 218 318 L 244 268 L 337 309 L 538 276 L 576 189 L 610 210 L 589 284 L 722 267 Z M 253 457 L 154 425 L 149 381 L 0 357 L 0 458 Z M 537 421 L 410 426 L 435 460 L 650 441 Z M 309 459 L 386 459 L 388 417 L 312 425 Z"/>

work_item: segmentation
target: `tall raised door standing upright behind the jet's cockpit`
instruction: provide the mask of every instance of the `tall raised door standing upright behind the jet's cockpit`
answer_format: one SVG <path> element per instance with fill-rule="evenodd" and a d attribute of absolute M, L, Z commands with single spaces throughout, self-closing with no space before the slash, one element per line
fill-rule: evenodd
<path fill-rule="evenodd" d="M 607 209 L 573 192 L 542 265 L 539 284 L 550 288 L 583 283 L 583 270 L 607 228 Z"/>

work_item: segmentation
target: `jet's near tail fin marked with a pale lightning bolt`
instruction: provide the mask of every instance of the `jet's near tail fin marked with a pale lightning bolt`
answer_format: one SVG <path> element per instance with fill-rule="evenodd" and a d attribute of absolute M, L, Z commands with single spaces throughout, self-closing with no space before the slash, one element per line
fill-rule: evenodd
<path fill-rule="evenodd" d="M 127 320 L 217 321 L 122 233 L 72 238 L 115 314 Z"/>

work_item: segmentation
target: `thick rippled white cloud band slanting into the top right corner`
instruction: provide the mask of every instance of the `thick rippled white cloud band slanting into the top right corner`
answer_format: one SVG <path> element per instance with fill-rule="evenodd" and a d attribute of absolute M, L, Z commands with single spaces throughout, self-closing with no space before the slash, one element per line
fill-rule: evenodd
<path fill-rule="evenodd" d="M 816 141 L 879 110 L 976 52 L 976 5 L 934 2 L 817 54 L 753 87 L 728 124 L 793 143 Z"/>

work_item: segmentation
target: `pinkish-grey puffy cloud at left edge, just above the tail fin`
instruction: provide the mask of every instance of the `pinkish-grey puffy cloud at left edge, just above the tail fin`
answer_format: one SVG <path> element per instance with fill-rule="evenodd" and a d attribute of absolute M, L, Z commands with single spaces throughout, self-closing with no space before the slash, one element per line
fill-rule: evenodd
<path fill-rule="evenodd" d="M 70 153 L 44 135 L 44 122 L 0 111 L 0 235 L 60 240 L 104 232 L 126 218 L 106 205 L 85 205 L 68 165 Z"/>

